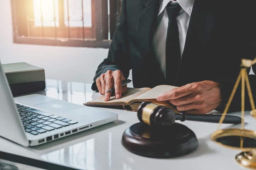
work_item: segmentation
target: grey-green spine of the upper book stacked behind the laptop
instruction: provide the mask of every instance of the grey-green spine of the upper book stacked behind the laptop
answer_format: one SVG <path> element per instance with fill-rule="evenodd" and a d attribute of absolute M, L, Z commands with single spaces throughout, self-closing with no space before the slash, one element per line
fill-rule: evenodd
<path fill-rule="evenodd" d="M 40 69 L 33 71 L 6 73 L 6 78 L 9 84 L 45 81 L 45 70 Z"/>

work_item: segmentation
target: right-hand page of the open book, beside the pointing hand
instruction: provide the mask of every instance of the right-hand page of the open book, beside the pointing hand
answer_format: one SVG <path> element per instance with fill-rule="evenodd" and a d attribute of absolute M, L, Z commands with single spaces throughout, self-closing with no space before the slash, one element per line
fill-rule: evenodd
<path fill-rule="evenodd" d="M 160 94 L 164 92 L 169 92 L 170 90 L 175 88 L 177 87 L 169 85 L 159 85 L 136 97 L 135 100 L 156 99 L 157 96 L 159 96 Z"/>

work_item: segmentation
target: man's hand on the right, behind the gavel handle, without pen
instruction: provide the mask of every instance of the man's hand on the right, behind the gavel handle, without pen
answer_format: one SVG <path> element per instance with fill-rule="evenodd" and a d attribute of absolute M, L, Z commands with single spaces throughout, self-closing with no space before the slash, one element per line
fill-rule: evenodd
<path fill-rule="evenodd" d="M 159 95 L 157 100 L 169 101 L 181 112 L 209 113 L 221 103 L 220 84 L 208 80 L 186 84 Z"/>

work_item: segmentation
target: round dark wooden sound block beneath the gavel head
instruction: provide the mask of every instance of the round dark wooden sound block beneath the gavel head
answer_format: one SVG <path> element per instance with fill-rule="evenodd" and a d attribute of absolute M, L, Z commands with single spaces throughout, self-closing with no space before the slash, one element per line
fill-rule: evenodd
<path fill-rule="evenodd" d="M 190 128 L 179 123 L 168 127 L 152 127 L 136 123 L 124 131 L 122 145 L 137 155 L 170 158 L 195 150 L 198 141 Z"/>

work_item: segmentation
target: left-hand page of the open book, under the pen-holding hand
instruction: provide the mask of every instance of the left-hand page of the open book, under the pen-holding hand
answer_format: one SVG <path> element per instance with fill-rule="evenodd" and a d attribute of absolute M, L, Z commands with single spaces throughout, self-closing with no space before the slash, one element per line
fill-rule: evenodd
<path fill-rule="evenodd" d="M 128 105 L 130 100 L 138 97 L 142 93 L 150 90 L 150 88 L 128 88 L 126 94 L 122 95 L 120 99 L 115 99 L 115 96 L 111 96 L 109 101 L 104 101 L 105 96 L 100 96 L 97 99 L 89 101 L 86 105 L 92 104 L 121 104 L 126 103 Z"/>

